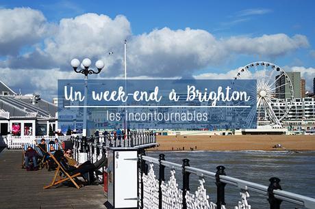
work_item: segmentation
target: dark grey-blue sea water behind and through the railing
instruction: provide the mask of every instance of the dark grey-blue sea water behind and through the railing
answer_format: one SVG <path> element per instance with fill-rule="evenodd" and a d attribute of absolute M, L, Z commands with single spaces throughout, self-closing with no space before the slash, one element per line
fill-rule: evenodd
<path fill-rule="evenodd" d="M 158 158 L 162 152 L 147 152 L 148 156 Z M 315 152 L 163 152 L 166 161 L 181 164 L 184 158 L 190 159 L 190 166 L 207 171 L 216 171 L 216 166 L 224 165 L 227 176 L 250 182 L 269 185 L 269 178 L 280 178 L 284 191 L 315 198 Z M 155 175 L 158 178 L 158 166 Z M 166 181 L 169 178 L 166 169 Z M 181 189 L 181 171 L 176 171 L 176 178 Z M 190 174 L 190 192 L 196 191 L 199 178 Z M 216 203 L 216 185 L 214 180 L 205 178 L 205 187 L 210 200 Z M 269 208 L 266 195 L 249 191 L 251 208 Z M 236 186 L 225 186 L 225 202 L 228 208 L 234 208 L 240 201 L 239 189 Z M 283 202 L 281 208 L 303 208 Z"/>

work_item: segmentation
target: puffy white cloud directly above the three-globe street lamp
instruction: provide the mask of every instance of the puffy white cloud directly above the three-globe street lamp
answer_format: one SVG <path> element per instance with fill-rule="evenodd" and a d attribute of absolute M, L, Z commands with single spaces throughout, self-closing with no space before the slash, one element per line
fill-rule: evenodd
<path fill-rule="evenodd" d="M 111 19 L 103 14 L 83 14 L 60 20 L 55 36 L 46 40 L 45 53 L 62 64 L 73 57 L 102 57 L 130 35 L 125 16 Z"/>

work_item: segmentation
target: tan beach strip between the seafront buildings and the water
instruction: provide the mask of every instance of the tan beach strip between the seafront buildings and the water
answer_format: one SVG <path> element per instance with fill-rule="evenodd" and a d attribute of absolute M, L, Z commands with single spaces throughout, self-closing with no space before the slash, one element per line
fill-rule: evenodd
<path fill-rule="evenodd" d="M 297 150 L 315 151 L 314 135 L 157 136 L 158 151 L 172 150 Z M 273 148 L 281 144 L 282 148 Z M 197 148 L 197 149 L 196 149 Z"/>

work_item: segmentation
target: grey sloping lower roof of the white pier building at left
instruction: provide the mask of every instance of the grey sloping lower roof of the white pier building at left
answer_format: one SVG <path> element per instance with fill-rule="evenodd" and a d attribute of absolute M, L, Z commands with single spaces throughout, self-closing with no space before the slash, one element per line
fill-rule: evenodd
<path fill-rule="evenodd" d="M 0 109 L 9 112 L 10 117 L 55 117 L 58 107 L 47 102 L 38 100 L 31 103 L 32 96 L 0 96 Z"/>

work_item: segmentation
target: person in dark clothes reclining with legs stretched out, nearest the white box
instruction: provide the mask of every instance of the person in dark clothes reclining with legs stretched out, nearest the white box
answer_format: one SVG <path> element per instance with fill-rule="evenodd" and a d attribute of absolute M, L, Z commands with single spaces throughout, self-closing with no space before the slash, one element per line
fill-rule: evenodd
<path fill-rule="evenodd" d="M 94 182 L 96 179 L 94 178 L 94 171 L 99 170 L 101 167 L 104 167 L 108 163 L 108 159 L 105 154 L 99 159 L 99 161 L 95 163 L 91 163 L 90 161 L 86 161 L 82 164 L 78 164 L 75 159 L 72 158 L 71 150 L 66 150 L 65 154 L 61 150 L 57 150 L 53 155 L 56 160 L 67 169 L 71 175 L 75 173 L 81 173 L 82 176 L 86 180 L 90 180 L 90 182 Z"/>

